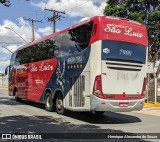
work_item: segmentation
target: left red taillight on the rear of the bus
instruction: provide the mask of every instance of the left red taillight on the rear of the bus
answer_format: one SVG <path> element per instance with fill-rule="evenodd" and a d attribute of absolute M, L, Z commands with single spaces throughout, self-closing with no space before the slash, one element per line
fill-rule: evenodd
<path fill-rule="evenodd" d="M 99 98 L 105 98 L 102 92 L 102 80 L 101 75 L 96 76 L 93 88 L 93 95 Z"/>

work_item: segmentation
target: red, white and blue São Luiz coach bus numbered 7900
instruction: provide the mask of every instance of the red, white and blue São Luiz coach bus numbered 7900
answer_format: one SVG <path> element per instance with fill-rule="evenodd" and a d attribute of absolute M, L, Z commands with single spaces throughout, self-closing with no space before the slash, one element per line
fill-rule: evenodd
<path fill-rule="evenodd" d="M 95 16 L 18 48 L 6 68 L 9 95 L 58 114 L 141 110 L 147 54 L 143 24 Z"/>

